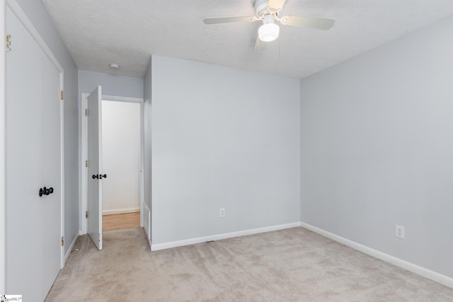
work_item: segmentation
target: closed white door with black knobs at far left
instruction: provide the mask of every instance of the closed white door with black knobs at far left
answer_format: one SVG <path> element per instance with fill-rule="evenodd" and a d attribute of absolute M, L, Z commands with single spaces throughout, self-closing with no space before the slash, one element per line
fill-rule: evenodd
<path fill-rule="evenodd" d="M 6 292 L 43 301 L 62 261 L 61 71 L 9 7 L 6 33 Z"/>

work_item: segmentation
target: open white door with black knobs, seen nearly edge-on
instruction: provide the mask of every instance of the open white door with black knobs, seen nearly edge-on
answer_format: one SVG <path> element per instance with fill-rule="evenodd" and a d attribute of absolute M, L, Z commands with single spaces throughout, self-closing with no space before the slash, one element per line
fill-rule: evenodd
<path fill-rule="evenodd" d="M 102 250 L 102 92 L 88 96 L 88 235 Z"/>

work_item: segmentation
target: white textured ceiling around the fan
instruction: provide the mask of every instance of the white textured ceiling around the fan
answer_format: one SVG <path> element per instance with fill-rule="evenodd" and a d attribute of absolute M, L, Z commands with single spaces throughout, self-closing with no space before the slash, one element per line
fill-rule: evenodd
<path fill-rule="evenodd" d="M 452 0 L 287 0 L 281 16 L 334 18 L 331 30 L 280 26 L 255 52 L 254 0 L 42 0 L 82 70 L 143 77 L 151 55 L 303 78 L 453 14 Z M 117 71 L 108 67 L 120 64 Z"/>

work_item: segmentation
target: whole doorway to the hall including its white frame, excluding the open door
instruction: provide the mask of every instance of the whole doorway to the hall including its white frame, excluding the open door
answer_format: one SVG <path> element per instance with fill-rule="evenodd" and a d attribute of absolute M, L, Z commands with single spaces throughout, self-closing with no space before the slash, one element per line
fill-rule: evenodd
<path fill-rule="evenodd" d="M 88 231 L 88 93 L 81 95 L 81 233 Z M 141 98 L 102 95 L 103 231 L 143 227 L 144 103 Z M 105 222 L 105 223 L 104 223 Z M 106 224 L 106 225 L 105 225 Z"/>

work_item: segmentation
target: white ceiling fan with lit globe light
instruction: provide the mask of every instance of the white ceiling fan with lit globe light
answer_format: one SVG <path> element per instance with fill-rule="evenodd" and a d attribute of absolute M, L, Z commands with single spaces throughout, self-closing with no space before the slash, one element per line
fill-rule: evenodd
<path fill-rule="evenodd" d="M 255 22 L 262 21 L 263 25 L 258 28 L 258 38 L 256 39 L 255 49 L 257 50 L 259 41 L 271 42 L 276 40 L 280 27 L 275 23 L 279 21 L 282 25 L 292 25 L 302 28 L 316 28 L 319 30 L 330 29 L 335 20 L 330 18 L 307 17 L 307 16 L 282 16 L 286 0 L 255 0 L 254 8 L 256 16 L 240 17 L 220 17 L 205 18 L 205 24 L 234 23 L 234 22 Z"/>

